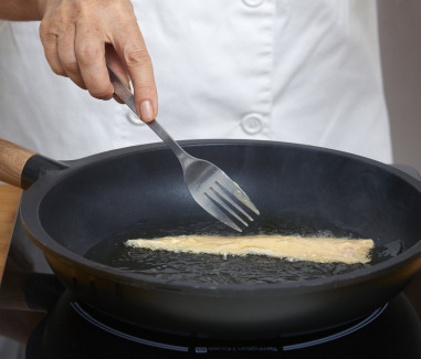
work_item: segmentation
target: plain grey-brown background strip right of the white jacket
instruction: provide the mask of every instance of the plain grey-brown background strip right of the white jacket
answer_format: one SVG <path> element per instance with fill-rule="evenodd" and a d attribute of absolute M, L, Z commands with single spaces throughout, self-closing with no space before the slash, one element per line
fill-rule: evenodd
<path fill-rule="evenodd" d="M 421 1 L 379 0 L 378 10 L 393 161 L 421 171 Z"/>

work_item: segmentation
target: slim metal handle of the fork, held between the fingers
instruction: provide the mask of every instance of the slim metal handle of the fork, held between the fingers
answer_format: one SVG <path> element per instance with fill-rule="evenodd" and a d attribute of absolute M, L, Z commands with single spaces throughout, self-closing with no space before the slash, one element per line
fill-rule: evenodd
<path fill-rule="evenodd" d="M 109 80 L 114 86 L 114 93 L 138 116 L 136 110 L 135 97 L 125 83 L 115 74 L 115 72 L 107 65 Z M 159 138 L 168 145 L 168 147 L 175 152 L 178 157 L 181 166 L 185 167 L 186 162 L 191 158 L 173 139 L 172 137 L 164 129 L 161 125 L 158 124 L 156 119 L 146 123 L 149 128 L 159 136 Z"/>

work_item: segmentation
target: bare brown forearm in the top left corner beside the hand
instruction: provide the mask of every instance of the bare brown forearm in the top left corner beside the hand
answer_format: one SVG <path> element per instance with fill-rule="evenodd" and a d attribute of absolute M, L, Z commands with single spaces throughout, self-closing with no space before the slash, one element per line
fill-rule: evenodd
<path fill-rule="evenodd" d="M 0 19 L 25 21 L 41 20 L 41 0 L 1 0 Z"/>

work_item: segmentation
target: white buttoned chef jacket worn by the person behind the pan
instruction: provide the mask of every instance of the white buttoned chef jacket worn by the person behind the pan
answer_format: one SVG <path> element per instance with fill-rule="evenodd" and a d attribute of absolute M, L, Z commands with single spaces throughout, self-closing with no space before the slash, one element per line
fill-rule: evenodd
<path fill-rule="evenodd" d="M 157 119 L 176 139 L 309 144 L 391 161 L 376 1 L 135 0 Z M 159 141 L 50 70 L 38 22 L 0 23 L 0 136 L 55 159 Z"/>

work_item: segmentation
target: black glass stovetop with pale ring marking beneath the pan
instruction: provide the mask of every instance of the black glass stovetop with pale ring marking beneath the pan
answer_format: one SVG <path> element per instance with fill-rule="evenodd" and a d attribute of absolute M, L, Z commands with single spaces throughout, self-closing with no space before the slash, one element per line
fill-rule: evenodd
<path fill-rule="evenodd" d="M 346 310 L 346 308 L 344 308 Z M 65 292 L 27 345 L 28 359 L 60 358 L 421 358 L 421 324 L 408 298 L 330 331 L 223 341 L 176 337 L 119 323 Z"/>

